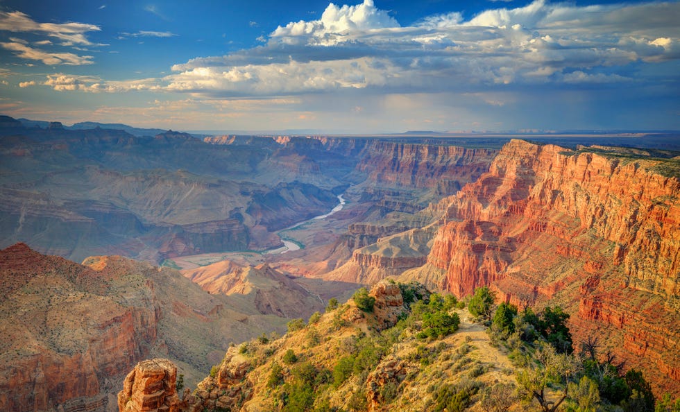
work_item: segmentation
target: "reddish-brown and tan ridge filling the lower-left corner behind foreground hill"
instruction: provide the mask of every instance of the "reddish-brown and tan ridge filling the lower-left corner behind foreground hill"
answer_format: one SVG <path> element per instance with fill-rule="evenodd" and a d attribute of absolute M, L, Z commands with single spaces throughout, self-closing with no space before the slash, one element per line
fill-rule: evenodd
<path fill-rule="evenodd" d="M 3 411 L 112 410 L 124 375 L 147 357 L 172 359 L 195 384 L 230 341 L 289 320 L 170 268 L 115 256 L 76 264 L 22 243 L 0 250 L 0 280 Z"/>

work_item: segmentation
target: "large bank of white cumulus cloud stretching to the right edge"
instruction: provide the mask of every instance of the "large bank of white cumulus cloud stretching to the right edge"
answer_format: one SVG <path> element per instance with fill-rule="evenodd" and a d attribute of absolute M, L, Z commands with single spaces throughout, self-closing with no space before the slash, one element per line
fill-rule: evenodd
<path fill-rule="evenodd" d="M 372 0 L 330 3 L 320 19 L 278 26 L 262 46 L 198 57 L 174 65 L 173 74 L 161 78 L 80 89 L 232 98 L 628 83 L 645 65 L 674 62 L 678 67 L 679 14 L 678 2 L 576 6 L 535 0 L 467 20 L 451 11 L 401 26 Z"/>

